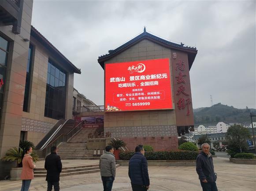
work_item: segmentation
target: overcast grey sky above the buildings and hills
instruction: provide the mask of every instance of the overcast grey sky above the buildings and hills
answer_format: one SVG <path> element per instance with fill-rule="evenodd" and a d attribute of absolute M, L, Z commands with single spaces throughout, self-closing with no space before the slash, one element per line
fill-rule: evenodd
<path fill-rule="evenodd" d="M 190 69 L 193 108 L 213 103 L 256 108 L 255 1 L 34 0 L 32 25 L 82 74 L 74 87 L 104 105 L 97 62 L 143 32 L 196 46 Z"/>

